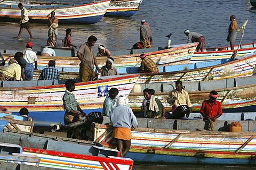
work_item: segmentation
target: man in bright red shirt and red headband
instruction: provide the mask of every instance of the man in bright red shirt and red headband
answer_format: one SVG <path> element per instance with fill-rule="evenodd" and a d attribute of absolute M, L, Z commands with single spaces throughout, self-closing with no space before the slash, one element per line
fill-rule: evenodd
<path fill-rule="evenodd" d="M 204 116 L 204 120 L 211 119 L 213 122 L 217 120 L 218 117 L 222 115 L 222 106 L 219 101 L 217 101 L 218 92 L 212 90 L 209 95 L 209 100 L 204 100 L 200 113 Z"/>

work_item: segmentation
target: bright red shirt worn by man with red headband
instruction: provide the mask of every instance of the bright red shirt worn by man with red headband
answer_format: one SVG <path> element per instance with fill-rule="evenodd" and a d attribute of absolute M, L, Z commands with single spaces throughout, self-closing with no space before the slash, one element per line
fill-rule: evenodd
<path fill-rule="evenodd" d="M 204 113 L 210 118 L 213 118 L 218 114 L 222 115 L 222 106 L 220 101 L 215 101 L 215 103 L 212 105 L 209 100 L 204 100 L 200 109 L 200 113 Z"/>

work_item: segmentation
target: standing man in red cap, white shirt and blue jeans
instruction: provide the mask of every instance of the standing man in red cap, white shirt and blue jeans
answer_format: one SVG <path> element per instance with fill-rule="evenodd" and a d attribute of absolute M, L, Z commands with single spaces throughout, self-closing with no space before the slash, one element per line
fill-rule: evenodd
<path fill-rule="evenodd" d="M 36 53 L 33 52 L 32 47 L 33 44 L 31 42 L 27 43 L 27 48 L 23 50 L 23 58 L 27 61 L 24 68 L 25 80 L 33 80 L 34 75 L 34 63 L 35 63 L 35 70 L 37 70 L 37 56 Z"/>

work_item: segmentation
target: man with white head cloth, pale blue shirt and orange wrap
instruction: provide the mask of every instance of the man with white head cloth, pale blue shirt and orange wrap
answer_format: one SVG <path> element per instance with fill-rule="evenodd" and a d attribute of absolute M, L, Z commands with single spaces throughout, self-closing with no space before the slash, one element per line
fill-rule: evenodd
<path fill-rule="evenodd" d="M 113 137 L 116 139 L 117 150 L 120 157 L 124 157 L 131 147 L 131 128 L 137 128 L 137 118 L 130 107 L 127 107 L 129 99 L 125 95 L 118 96 L 117 106 L 110 112 L 110 122 L 114 126 Z"/>

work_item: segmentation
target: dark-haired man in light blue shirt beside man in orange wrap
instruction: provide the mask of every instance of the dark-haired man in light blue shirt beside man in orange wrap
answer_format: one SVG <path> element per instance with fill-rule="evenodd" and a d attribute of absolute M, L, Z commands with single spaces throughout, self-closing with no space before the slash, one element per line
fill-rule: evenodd
<path fill-rule="evenodd" d="M 117 88 L 111 88 L 108 91 L 108 97 L 104 100 L 103 103 L 103 109 L 102 109 L 102 115 L 103 116 L 108 116 L 112 109 L 115 107 L 114 106 L 114 99 L 118 95 L 118 89 Z"/>

